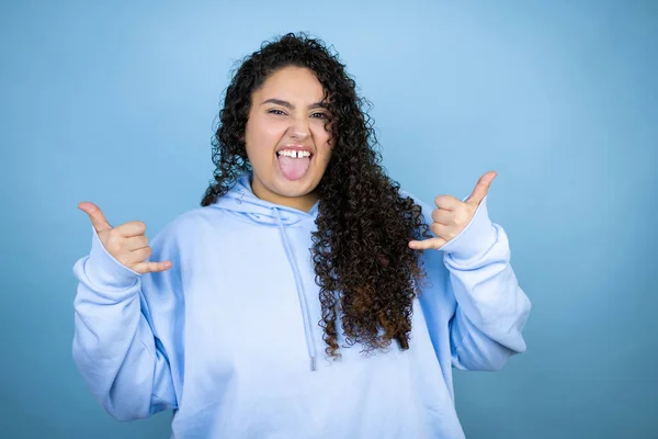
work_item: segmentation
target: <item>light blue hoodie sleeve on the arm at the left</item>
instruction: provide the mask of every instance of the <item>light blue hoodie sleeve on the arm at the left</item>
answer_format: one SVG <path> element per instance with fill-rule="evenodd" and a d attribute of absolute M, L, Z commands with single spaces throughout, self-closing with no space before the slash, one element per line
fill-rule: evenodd
<path fill-rule="evenodd" d="M 177 408 L 172 362 L 164 345 L 180 320 L 178 248 L 167 228 L 150 243 L 151 260 L 173 267 L 140 274 L 105 250 L 92 227 L 89 256 L 73 266 L 73 361 L 91 393 L 120 420 Z M 160 333 L 152 316 L 162 322 Z M 173 349 L 170 349 L 173 350 Z"/>

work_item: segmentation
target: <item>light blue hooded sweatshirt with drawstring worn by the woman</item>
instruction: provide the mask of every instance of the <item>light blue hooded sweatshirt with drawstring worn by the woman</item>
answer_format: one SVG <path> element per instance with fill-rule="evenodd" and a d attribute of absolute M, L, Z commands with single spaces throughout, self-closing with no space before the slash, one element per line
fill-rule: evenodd
<path fill-rule="evenodd" d="M 452 367 L 498 370 L 523 352 L 531 307 L 487 199 L 442 251 L 423 252 L 409 349 L 364 357 L 340 336 L 336 362 L 318 325 L 318 204 L 260 200 L 249 179 L 150 241 L 168 271 L 122 266 L 92 230 L 73 267 L 73 359 L 103 407 L 118 419 L 174 409 L 174 438 L 463 438 Z"/>

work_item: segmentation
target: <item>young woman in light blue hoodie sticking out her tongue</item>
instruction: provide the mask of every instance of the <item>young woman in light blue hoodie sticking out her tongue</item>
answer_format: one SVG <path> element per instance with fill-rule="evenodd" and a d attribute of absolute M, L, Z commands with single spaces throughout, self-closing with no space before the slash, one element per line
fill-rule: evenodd
<path fill-rule="evenodd" d="M 173 409 L 175 438 L 464 437 L 452 368 L 525 350 L 496 175 L 432 209 L 374 144 L 338 56 L 287 34 L 232 78 L 201 207 L 149 246 L 80 203 L 73 358 L 103 407 Z"/>

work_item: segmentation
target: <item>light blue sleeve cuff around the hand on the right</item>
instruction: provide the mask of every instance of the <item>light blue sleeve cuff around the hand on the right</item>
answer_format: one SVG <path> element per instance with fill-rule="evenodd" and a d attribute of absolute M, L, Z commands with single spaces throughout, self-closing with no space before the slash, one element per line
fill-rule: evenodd
<path fill-rule="evenodd" d="M 441 248 L 453 259 L 478 258 L 496 243 L 497 233 L 491 219 L 489 219 L 487 198 L 488 195 L 480 202 L 466 227 Z"/>

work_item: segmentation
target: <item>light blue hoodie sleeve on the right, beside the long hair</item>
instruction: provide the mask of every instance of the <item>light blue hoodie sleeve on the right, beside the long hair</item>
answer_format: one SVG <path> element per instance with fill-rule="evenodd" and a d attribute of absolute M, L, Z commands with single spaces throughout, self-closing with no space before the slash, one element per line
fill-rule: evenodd
<path fill-rule="evenodd" d="M 431 224 L 431 209 L 419 204 Z M 531 303 L 510 264 L 508 236 L 489 219 L 487 198 L 455 238 L 441 250 L 426 251 L 442 252 L 440 260 L 445 268 L 441 269 L 447 269 L 443 284 L 456 303 L 449 322 L 452 365 L 462 370 L 499 370 L 511 356 L 524 352 L 521 333 Z M 428 260 L 436 263 L 435 259 Z"/>

